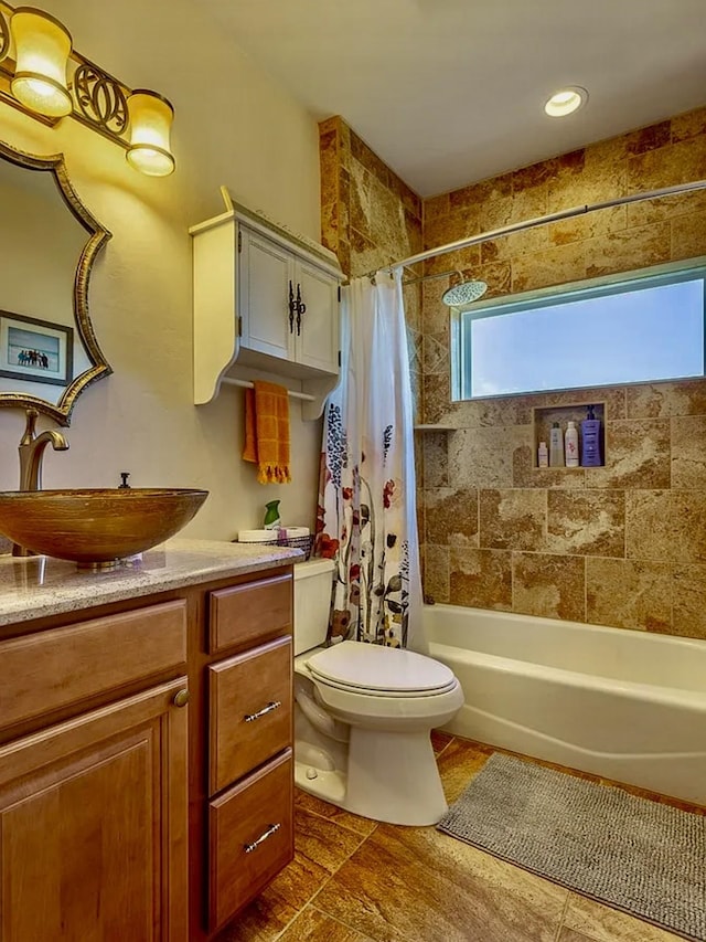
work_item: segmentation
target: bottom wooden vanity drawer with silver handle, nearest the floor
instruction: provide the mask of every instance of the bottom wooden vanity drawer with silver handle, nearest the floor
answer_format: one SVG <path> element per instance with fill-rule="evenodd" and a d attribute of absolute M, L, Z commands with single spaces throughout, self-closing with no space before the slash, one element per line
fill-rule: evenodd
<path fill-rule="evenodd" d="M 293 857 L 291 750 L 208 805 L 208 927 L 214 931 Z"/>

